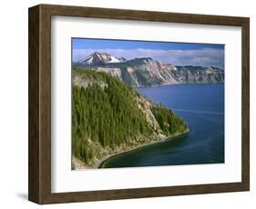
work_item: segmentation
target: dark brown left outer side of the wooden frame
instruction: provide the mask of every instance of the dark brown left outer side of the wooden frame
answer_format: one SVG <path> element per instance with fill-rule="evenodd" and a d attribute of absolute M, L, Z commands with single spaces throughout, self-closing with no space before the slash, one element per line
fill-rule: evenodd
<path fill-rule="evenodd" d="M 28 199 L 39 203 L 39 7 L 28 18 Z"/>

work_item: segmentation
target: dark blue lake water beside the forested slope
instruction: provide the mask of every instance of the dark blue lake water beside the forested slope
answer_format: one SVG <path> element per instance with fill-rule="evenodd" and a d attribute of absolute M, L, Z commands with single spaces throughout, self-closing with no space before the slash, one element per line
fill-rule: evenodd
<path fill-rule="evenodd" d="M 138 88 L 189 124 L 190 133 L 169 142 L 118 154 L 104 167 L 224 163 L 224 85 L 165 85 Z"/>

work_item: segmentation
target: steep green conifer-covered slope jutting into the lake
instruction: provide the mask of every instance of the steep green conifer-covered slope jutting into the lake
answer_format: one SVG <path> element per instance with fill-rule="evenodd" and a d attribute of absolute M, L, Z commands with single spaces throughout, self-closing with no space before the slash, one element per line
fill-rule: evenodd
<path fill-rule="evenodd" d="M 73 69 L 73 166 L 96 167 L 112 154 L 185 134 L 185 122 L 117 77 Z"/>

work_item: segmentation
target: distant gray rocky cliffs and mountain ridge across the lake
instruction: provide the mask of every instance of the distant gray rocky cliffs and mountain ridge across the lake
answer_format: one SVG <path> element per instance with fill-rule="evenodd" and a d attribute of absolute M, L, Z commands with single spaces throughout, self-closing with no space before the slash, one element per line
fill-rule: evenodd
<path fill-rule="evenodd" d="M 108 54 L 97 55 L 95 53 L 93 55 L 105 57 L 107 61 L 103 62 L 95 59 L 95 62 L 90 63 L 88 62 L 88 60 L 91 60 L 90 55 L 85 60 L 87 62 L 73 65 L 118 76 L 132 87 L 224 82 L 224 70 L 219 67 L 170 65 L 150 57 L 125 60 L 124 58 L 111 59 L 114 56 Z"/>

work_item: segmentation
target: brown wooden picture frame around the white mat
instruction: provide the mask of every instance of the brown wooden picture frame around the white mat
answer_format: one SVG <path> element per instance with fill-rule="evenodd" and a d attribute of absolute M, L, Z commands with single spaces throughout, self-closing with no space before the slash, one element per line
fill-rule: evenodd
<path fill-rule="evenodd" d="M 118 20 L 198 25 L 240 26 L 242 31 L 241 182 L 196 184 L 89 192 L 51 192 L 51 16 L 65 15 Z M 29 8 L 29 169 L 28 199 L 57 204 L 180 194 L 210 194 L 250 189 L 250 19 L 107 8 L 36 5 Z"/>

